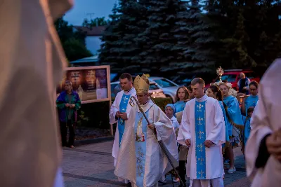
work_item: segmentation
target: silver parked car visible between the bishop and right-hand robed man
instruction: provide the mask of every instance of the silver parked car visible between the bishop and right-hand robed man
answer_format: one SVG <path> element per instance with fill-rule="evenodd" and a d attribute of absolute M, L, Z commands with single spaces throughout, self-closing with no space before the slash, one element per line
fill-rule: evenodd
<path fill-rule="evenodd" d="M 176 102 L 176 91 L 179 85 L 164 77 L 151 76 L 148 79 L 149 81 L 157 83 L 159 88 L 163 90 L 164 95 L 166 95 L 166 97 L 171 97 L 173 102 Z"/>

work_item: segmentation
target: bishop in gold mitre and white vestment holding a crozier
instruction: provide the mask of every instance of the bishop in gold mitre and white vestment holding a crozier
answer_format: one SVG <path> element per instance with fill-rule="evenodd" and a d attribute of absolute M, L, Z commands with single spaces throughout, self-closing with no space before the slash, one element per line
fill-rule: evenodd
<path fill-rule="evenodd" d="M 137 76 L 133 82 L 138 102 L 147 116 L 138 109 L 136 101 L 131 109 L 117 157 L 115 175 L 131 181 L 135 187 L 158 186 L 163 174 L 171 170 L 171 165 L 160 148 L 157 139 L 162 140 L 174 166 L 178 166 L 176 135 L 171 120 L 159 107 L 149 100 L 148 78 Z M 131 103 L 133 105 L 133 103 Z M 157 133 L 155 137 L 154 133 Z"/>

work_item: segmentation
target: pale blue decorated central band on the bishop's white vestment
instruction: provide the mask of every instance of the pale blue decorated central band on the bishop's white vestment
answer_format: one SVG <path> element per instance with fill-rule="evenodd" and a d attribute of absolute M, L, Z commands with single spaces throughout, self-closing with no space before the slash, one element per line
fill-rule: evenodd
<path fill-rule="evenodd" d="M 149 111 L 149 110 L 148 110 Z M 148 117 L 148 111 L 145 116 Z M 143 113 L 136 113 L 134 125 L 135 147 L 136 147 L 136 186 L 143 186 L 143 176 L 145 175 L 145 155 L 146 155 L 146 137 L 148 123 L 143 117 Z"/>

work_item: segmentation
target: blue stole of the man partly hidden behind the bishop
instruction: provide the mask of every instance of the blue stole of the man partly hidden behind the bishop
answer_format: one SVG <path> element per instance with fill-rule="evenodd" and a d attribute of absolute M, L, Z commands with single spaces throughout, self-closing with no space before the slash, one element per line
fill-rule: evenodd
<path fill-rule="evenodd" d="M 126 112 L 130 97 L 131 97 L 131 95 L 123 94 L 120 105 L 119 105 L 120 112 Z M 125 130 L 125 121 L 122 120 L 122 118 L 119 118 L 118 119 L 119 146 L 121 145 L 121 140 L 122 140 L 122 137 L 124 134 L 124 130 Z"/>

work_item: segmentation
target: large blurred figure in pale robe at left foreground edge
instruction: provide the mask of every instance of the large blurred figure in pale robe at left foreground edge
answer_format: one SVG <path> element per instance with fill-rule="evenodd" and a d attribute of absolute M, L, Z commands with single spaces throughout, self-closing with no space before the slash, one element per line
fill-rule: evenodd
<path fill-rule="evenodd" d="M 1 186 L 63 186 L 54 92 L 67 63 L 53 22 L 71 6 L 0 1 Z"/>

